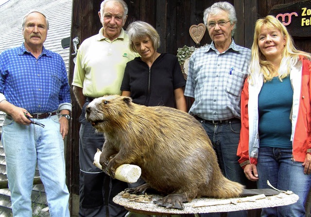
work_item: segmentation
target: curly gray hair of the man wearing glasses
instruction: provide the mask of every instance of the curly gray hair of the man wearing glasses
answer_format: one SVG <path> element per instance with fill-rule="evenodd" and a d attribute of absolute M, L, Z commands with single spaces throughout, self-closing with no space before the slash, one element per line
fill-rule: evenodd
<path fill-rule="evenodd" d="M 206 25 L 206 27 L 207 27 L 208 16 L 209 15 L 217 15 L 222 11 L 225 11 L 228 14 L 228 18 L 230 20 L 231 25 L 236 24 L 238 22 L 237 15 L 236 15 L 236 12 L 235 12 L 233 5 L 226 2 L 226 1 L 220 1 L 220 2 L 214 3 L 212 6 L 205 9 L 203 21 L 204 21 L 204 24 Z M 231 36 L 234 35 L 236 28 L 237 28 L 237 25 L 234 25 L 233 30 L 231 32 Z"/>

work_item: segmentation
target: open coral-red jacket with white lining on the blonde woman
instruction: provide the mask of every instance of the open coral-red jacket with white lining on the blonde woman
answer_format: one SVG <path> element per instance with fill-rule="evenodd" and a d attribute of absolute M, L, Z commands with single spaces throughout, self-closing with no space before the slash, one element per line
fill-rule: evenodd
<path fill-rule="evenodd" d="M 306 154 L 311 153 L 311 62 L 304 59 L 303 56 L 300 56 L 300 61 L 302 62 L 301 75 L 297 76 L 293 70 L 290 73 L 294 90 L 291 138 L 293 138 L 294 161 L 304 162 Z M 294 82 L 295 78 L 299 77 L 301 77 L 301 83 Z M 242 168 L 249 163 L 257 164 L 259 151 L 258 94 L 261 87 L 262 84 L 255 87 L 245 81 L 241 94 L 242 127 L 237 155 L 240 157 L 239 163 Z M 297 90 L 298 88 L 300 91 Z M 295 97 L 295 91 L 299 91 L 297 97 Z M 252 120 L 252 123 L 249 120 Z"/>

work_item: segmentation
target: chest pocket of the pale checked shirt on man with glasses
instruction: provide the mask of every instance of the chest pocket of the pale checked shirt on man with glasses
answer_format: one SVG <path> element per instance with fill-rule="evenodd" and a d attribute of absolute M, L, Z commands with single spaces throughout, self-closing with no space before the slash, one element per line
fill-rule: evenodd
<path fill-rule="evenodd" d="M 240 70 L 228 69 L 225 74 L 225 91 L 230 95 L 240 97 L 246 77 L 247 74 Z"/>

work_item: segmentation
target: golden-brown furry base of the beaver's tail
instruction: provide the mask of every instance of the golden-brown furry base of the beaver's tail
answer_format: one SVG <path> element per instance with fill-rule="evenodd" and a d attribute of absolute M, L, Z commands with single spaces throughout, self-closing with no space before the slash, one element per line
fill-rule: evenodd
<path fill-rule="evenodd" d="M 214 198 L 238 198 L 242 195 L 244 188 L 242 184 L 222 177 L 209 194 L 211 193 L 210 196 Z"/>

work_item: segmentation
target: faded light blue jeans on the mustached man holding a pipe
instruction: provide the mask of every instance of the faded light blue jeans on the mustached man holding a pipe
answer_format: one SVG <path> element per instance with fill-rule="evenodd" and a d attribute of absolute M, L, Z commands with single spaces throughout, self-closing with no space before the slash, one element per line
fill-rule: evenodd
<path fill-rule="evenodd" d="M 34 119 L 45 127 L 17 124 L 7 116 L 2 127 L 2 145 L 14 217 L 32 217 L 31 193 L 38 165 L 52 217 L 69 217 L 64 141 L 58 116 Z"/>

